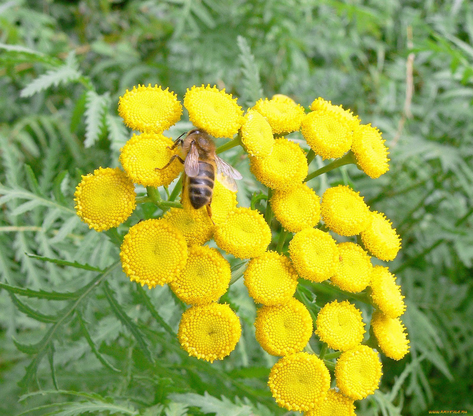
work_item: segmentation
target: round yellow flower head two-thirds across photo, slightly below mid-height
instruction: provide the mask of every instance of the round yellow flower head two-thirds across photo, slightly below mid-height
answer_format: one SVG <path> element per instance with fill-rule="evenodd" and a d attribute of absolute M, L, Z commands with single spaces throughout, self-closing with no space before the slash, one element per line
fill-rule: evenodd
<path fill-rule="evenodd" d="M 304 279 L 323 282 L 333 276 L 339 262 L 335 240 L 315 228 L 299 231 L 289 243 L 292 264 Z"/>

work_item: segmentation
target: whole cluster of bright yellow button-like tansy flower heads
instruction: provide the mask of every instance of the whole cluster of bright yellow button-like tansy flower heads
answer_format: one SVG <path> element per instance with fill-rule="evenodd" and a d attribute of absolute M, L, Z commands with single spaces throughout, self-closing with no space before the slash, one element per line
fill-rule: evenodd
<path fill-rule="evenodd" d="M 200 182 L 210 189 L 208 203 L 194 209 L 183 169 L 187 153 L 180 138 L 166 132 L 181 118 L 181 101 L 168 88 L 138 85 L 120 97 L 118 113 L 139 134 L 121 149 L 122 168 L 82 177 L 74 195 L 77 214 L 89 228 L 121 239 L 122 268 L 131 281 L 149 289 L 167 283 L 189 305 L 177 338 L 197 359 L 221 360 L 235 349 L 240 319 L 222 296 L 241 276 L 232 276 L 230 261 L 244 268 L 257 306 L 256 340 L 264 354 L 280 357 L 268 380 L 277 404 L 308 416 L 355 415 L 354 400 L 379 386 L 378 352 L 399 360 L 409 349 L 399 318 L 405 310 L 400 286 L 371 257 L 393 260 L 401 239 L 350 186 L 329 187 L 321 198 L 307 181 L 349 163 L 372 178 L 384 174 L 389 159 L 381 133 L 320 97 L 308 113 L 281 94 L 244 111 L 225 89 L 202 85 L 187 89 L 183 104 L 199 131 L 231 139 L 210 156 L 197 147 L 200 163 L 211 165 L 217 153 L 240 145 L 267 195 L 255 193 L 251 207 L 239 206 L 216 166 L 214 182 Z M 298 131 L 305 143 L 288 137 Z M 309 173 L 315 155 L 336 160 Z M 146 187 L 146 195 L 137 195 L 135 185 Z M 154 213 L 140 219 L 133 211 L 144 203 L 154 204 Z M 121 224 L 122 233 L 116 230 Z M 319 305 L 322 287 L 338 299 Z M 353 294 L 372 311 L 369 332 L 368 317 L 348 300 Z"/>

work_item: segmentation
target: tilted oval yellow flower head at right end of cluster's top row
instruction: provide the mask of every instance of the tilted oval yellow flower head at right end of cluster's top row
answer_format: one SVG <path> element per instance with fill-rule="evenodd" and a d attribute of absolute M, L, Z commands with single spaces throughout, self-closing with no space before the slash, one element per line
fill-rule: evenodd
<path fill-rule="evenodd" d="M 351 151 L 363 172 L 376 179 L 389 170 L 388 148 L 381 132 L 371 124 L 361 124 L 353 132 Z"/>

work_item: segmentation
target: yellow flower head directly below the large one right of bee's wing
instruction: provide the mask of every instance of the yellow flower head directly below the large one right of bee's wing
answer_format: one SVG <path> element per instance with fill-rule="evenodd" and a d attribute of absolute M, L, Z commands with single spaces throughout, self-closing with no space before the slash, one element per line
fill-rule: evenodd
<path fill-rule="evenodd" d="M 315 227 L 320 221 L 320 197 L 306 184 L 274 191 L 270 202 L 275 217 L 290 232 Z"/>

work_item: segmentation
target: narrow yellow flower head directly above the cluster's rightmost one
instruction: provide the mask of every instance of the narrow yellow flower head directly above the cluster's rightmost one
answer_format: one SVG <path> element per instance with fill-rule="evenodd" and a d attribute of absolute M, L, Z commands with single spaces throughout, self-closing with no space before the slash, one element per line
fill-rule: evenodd
<path fill-rule="evenodd" d="M 387 267 L 374 266 L 371 273 L 371 297 L 377 307 L 389 318 L 398 318 L 406 310 L 401 286 Z"/>

